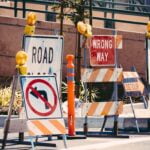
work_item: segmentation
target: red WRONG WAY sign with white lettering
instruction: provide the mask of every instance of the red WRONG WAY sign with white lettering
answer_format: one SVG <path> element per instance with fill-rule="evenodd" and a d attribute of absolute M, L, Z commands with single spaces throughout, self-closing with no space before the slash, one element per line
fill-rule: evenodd
<path fill-rule="evenodd" d="M 115 65 L 115 37 L 110 35 L 94 35 L 90 42 L 91 66 Z"/>

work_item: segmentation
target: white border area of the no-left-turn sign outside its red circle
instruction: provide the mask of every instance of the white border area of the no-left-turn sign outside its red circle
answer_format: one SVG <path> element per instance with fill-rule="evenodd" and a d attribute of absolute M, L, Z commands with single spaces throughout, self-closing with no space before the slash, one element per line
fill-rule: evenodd
<path fill-rule="evenodd" d="M 31 81 L 29 82 L 29 83 L 31 83 L 32 81 L 34 81 L 34 80 L 37 80 L 37 79 L 41 79 L 41 80 L 44 80 L 44 79 L 47 79 L 48 80 L 48 78 L 50 79 L 54 79 L 54 83 L 55 83 L 55 93 L 56 93 L 56 96 L 57 96 L 57 109 L 59 109 L 58 111 L 59 111 L 59 113 L 60 113 L 60 115 L 59 116 L 56 116 L 56 117 L 51 117 L 50 115 L 51 115 L 51 113 L 48 115 L 48 116 L 46 116 L 46 117 L 43 117 L 43 116 L 40 116 L 40 117 L 31 117 L 30 115 L 29 115 L 29 112 L 27 112 L 27 110 L 29 110 L 29 108 L 27 108 L 27 107 L 29 107 L 29 106 L 27 106 L 27 104 L 29 104 L 29 103 L 27 103 L 26 101 L 26 99 L 27 99 L 27 96 L 26 96 L 26 89 L 27 88 L 25 88 L 24 86 L 25 86 L 25 84 L 26 83 L 24 83 L 24 81 L 23 80 L 26 80 L 26 79 L 30 79 Z M 32 80 L 33 79 L 33 80 Z M 46 81 L 45 81 L 46 82 Z M 60 96 L 59 96 L 59 92 L 58 92 L 58 85 L 57 85 L 57 82 L 56 82 L 56 76 L 54 76 L 54 75 L 47 75 L 47 76 L 30 76 L 30 75 L 27 75 L 27 76 L 20 76 L 20 83 L 21 83 L 21 90 L 22 90 L 22 98 L 23 98 L 23 103 L 24 103 L 24 105 L 25 105 L 25 111 L 26 111 L 26 116 L 27 116 L 27 119 L 28 120 L 33 120 L 33 119 L 60 119 L 60 118 L 62 118 L 63 117 L 63 114 L 62 114 L 62 108 L 61 108 L 61 101 L 60 101 Z M 47 85 L 48 84 L 50 84 L 50 82 L 47 82 Z M 45 104 L 45 103 L 44 103 Z M 30 108 L 31 109 L 31 108 Z M 55 108 L 56 109 L 56 108 Z M 32 110 L 31 110 L 32 111 Z M 55 110 L 54 110 L 55 111 Z M 57 110 L 56 110 L 57 111 Z M 53 113 L 53 112 L 52 112 Z M 32 115 L 32 114 L 31 114 Z"/>

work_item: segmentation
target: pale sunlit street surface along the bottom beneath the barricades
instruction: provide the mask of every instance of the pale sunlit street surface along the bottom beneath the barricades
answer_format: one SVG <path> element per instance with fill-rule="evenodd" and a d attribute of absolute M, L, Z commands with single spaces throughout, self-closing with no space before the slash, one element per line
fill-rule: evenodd
<path fill-rule="evenodd" d="M 3 138 L 3 129 L 0 129 L 0 139 Z M 18 134 L 9 133 L 8 140 L 16 140 Z M 25 141 L 30 141 L 25 136 Z M 36 150 L 65 150 L 64 141 L 53 137 L 48 141 L 47 137 L 38 139 L 39 143 L 56 144 L 56 147 L 36 146 Z M 87 137 L 86 139 L 67 140 L 67 150 L 149 150 L 150 134 L 130 134 L 129 138 L 104 138 L 104 137 Z M 1 145 L 0 145 L 1 146 Z M 28 145 L 6 143 L 5 150 L 32 150 L 30 143 Z"/>

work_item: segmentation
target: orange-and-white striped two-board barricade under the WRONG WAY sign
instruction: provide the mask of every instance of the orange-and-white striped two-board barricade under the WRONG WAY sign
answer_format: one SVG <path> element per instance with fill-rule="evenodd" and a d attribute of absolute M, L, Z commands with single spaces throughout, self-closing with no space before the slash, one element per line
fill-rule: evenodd
<path fill-rule="evenodd" d="M 83 68 L 81 70 L 81 81 L 82 82 L 116 82 L 121 83 L 123 80 L 123 69 L 122 68 Z M 84 103 L 83 110 L 85 117 L 84 131 L 87 131 L 87 116 L 104 116 L 105 125 L 106 116 L 118 116 L 122 111 L 118 111 L 123 107 L 122 102 L 110 101 L 110 102 L 94 102 Z M 120 109 L 122 110 L 122 109 Z"/>

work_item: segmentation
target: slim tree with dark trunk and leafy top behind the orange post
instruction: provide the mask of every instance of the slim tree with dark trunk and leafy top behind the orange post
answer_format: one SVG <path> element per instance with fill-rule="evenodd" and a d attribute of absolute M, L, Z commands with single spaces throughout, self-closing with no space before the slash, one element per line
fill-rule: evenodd
<path fill-rule="evenodd" d="M 53 7 L 54 11 L 61 10 L 59 13 L 60 34 L 63 33 L 63 19 L 69 18 L 77 27 L 79 21 L 85 22 L 85 18 L 89 17 L 88 11 L 85 10 L 87 0 L 59 0 L 60 3 Z M 76 97 L 80 95 L 80 78 L 81 78 L 81 47 L 80 47 L 80 33 L 78 32 L 78 46 L 77 46 L 77 63 L 76 63 Z"/>

